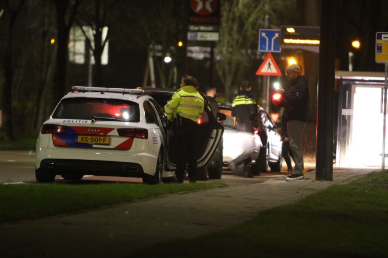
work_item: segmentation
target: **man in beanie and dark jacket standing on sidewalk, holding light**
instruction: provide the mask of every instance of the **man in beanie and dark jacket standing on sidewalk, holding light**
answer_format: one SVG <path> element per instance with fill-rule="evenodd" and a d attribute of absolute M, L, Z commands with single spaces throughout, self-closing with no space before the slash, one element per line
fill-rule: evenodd
<path fill-rule="evenodd" d="M 308 86 L 304 76 L 300 75 L 300 67 L 292 64 L 286 68 L 286 76 L 291 89 L 283 92 L 282 98 L 274 100 L 275 105 L 285 108 L 287 112 L 287 132 L 295 166 L 292 175 L 286 180 L 303 179 L 303 152 L 300 139 L 307 121 Z"/>

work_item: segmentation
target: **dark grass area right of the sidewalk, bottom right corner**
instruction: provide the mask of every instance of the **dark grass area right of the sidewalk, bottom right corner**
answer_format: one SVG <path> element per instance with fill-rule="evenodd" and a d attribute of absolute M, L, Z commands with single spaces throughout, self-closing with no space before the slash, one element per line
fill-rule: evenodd
<path fill-rule="evenodd" d="M 264 211 L 243 225 L 130 257 L 388 257 L 387 232 L 384 171 Z"/>

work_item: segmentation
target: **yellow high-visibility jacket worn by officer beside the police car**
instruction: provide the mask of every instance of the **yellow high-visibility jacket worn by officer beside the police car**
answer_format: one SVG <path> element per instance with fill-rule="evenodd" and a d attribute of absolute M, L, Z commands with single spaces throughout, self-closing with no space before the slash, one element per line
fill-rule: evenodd
<path fill-rule="evenodd" d="M 179 114 L 181 117 L 198 122 L 202 115 L 204 100 L 194 86 L 186 85 L 174 93 L 164 106 L 167 119 L 173 121 Z"/>

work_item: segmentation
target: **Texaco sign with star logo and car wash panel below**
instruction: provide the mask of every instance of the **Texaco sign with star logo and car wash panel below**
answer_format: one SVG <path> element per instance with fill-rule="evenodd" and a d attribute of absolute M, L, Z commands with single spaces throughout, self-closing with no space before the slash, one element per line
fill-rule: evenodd
<path fill-rule="evenodd" d="M 218 41 L 221 0 L 188 1 L 188 40 Z"/>

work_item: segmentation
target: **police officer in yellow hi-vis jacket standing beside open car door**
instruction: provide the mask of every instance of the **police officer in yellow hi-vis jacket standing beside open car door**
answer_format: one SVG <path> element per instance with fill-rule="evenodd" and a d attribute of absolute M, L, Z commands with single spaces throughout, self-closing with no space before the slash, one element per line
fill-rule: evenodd
<path fill-rule="evenodd" d="M 193 76 L 183 76 L 180 86 L 181 88 L 167 102 L 164 110 L 167 119 L 173 122 L 178 142 L 175 172 L 177 182 L 183 183 L 186 165 L 188 165 L 190 183 L 195 183 L 200 140 L 198 119 L 203 112 L 204 100 L 196 90 L 198 82 Z"/>

